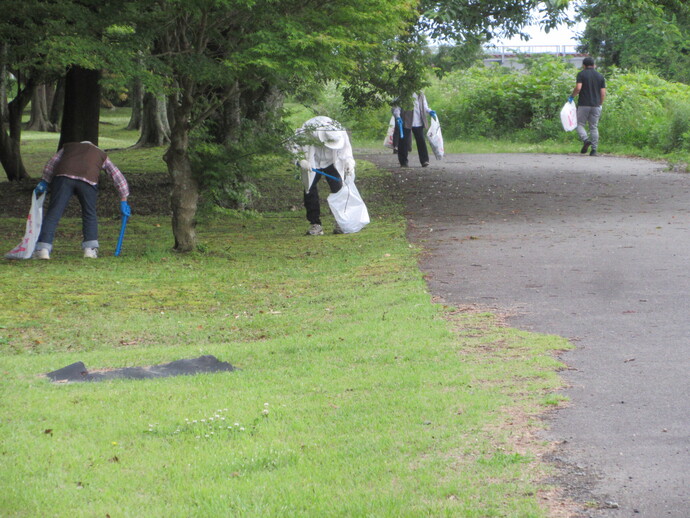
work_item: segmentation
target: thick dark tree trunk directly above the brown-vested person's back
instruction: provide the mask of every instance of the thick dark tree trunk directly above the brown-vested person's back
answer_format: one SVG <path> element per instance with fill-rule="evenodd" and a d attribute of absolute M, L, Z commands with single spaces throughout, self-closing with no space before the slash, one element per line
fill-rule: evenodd
<path fill-rule="evenodd" d="M 100 70 L 73 66 L 65 77 L 65 107 L 59 148 L 67 142 L 98 145 L 101 108 Z"/>

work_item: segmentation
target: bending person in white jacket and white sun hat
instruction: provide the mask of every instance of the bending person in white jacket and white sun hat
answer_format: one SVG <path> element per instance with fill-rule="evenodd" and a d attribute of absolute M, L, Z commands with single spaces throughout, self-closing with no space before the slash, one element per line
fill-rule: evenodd
<path fill-rule="evenodd" d="M 293 151 L 299 156 L 296 164 L 302 170 L 304 208 L 310 223 L 307 235 L 323 235 L 318 183 L 323 177 L 331 192 L 338 192 L 343 185 L 343 178 L 352 176 L 354 180 L 355 159 L 352 145 L 347 131 L 340 123 L 323 115 L 306 121 L 296 131 L 296 140 Z M 337 223 L 333 232 L 342 232 Z"/>

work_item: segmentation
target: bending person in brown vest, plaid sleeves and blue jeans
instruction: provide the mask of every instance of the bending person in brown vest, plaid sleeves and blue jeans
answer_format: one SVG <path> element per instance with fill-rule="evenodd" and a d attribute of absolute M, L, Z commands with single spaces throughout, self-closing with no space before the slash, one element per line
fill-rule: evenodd
<path fill-rule="evenodd" d="M 120 212 L 130 216 L 132 211 L 127 203 L 129 185 L 124 175 L 115 167 L 108 155 L 91 142 L 68 142 L 48 160 L 41 181 L 36 186 L 40 195 L 50 186 L 50 202 L 43 216 L 41 233 L 38 236 L 34 257 L 50 259 L 53 250 L 55 231 L 62 214 L 74 195 L 81 205 L 82 234 L 81 243 L 84 257 L 98 257 L 98 218 L 96 201 L 98 199 L 98 180 L 100 171 L 108 173 L 120 193 Z"/>

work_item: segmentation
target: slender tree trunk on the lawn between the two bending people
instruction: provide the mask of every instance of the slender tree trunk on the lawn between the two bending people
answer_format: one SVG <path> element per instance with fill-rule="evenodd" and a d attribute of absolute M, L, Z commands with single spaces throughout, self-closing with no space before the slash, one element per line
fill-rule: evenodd
<path fill-rule="evenodd" d="M 170 134 L 170 146 L 163 159 L 173 186 L 170 193 L 172 228 L 177 252 L 191 252 L 196 248 L 196 210 L 199 202 L 199 184 L 189 161 L 189 116 L 193 87 L 183 88 L 179 104 L 175 105 L 175 124 Z"/>

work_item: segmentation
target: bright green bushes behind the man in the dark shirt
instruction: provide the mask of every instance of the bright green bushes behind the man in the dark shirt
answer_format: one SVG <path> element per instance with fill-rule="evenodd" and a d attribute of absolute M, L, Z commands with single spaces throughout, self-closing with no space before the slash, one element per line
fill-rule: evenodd
<path fill-rule="evenodd" d="M 570 140 L 559 112 L 577 71 L 558 58 L 524 61 L 524 71 L 477 65 L 435 81 L 427 90 L 448 139 L 507 138 L 528 142 Z M 599 125 L 602 143 L 686 151 L 690 136 L 690 86 L 658 75 L 613 70 Z"/>

